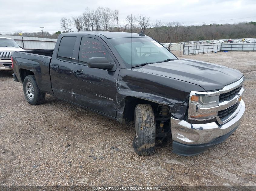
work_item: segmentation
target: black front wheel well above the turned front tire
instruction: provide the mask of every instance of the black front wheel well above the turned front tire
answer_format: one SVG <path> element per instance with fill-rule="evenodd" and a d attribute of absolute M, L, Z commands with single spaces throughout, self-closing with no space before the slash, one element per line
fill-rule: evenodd
<path fill-rule="evenodd" d="M 125 119 L 125 121 L 133 121 L 135 107 L 136 107 L 136 105 L 142 104 L 142 103 L 150 104 L 152 106 L 153 110 L 156 109 L 159 105 L 158 103 L 155 103 L 152 101 L 128 96 L 125 98 L 125 109 L 124 109 L 124 113 L 123 113 L 123 119 Z"/>

